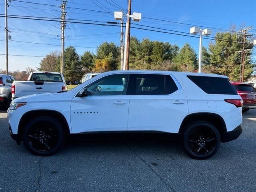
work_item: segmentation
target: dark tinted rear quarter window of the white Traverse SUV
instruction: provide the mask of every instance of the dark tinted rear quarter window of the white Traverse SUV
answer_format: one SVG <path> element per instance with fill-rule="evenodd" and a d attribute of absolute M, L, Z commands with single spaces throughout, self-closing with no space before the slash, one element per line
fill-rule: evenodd
<path fill-rule="evenodd" d="M 208 94 L 237 95 L 228 78 L 193 75 L 188 75 L 187 77 Z"/>

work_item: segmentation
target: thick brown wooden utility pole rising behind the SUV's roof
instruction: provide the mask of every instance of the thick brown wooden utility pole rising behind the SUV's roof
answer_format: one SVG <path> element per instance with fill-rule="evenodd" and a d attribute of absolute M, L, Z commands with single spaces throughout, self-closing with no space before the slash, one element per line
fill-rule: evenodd
<path fill-rule="evenodd" d="M 126 14 L 126 26 L 125 26 L 124 68 L 123 68 L 124 70 L 129 70 L 131 6 L 132 6 L 132 0 L 128 0 L 128 12 Z"/>

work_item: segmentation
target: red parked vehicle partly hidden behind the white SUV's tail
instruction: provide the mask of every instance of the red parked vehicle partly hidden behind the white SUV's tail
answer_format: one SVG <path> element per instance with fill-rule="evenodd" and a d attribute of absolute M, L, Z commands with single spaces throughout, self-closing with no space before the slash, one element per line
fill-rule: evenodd
<path fill-rule="evenodd" d="M 250 83 L 230 82 L 237 90 L 237 93 L 244 100 L 242 112 L 246 112 L 251 108 L 256 109 L 256 89 Z"/>

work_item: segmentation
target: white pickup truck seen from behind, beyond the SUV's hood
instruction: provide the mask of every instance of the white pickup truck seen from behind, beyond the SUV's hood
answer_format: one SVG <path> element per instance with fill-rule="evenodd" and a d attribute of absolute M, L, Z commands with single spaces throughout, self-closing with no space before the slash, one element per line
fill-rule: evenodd
<path fill-rule="evenodd" d="M 66 82 L 58 72 L 31 72 L 26 81 L 12 83 L 12 100 L 18 97 L 66 90 Z"/>

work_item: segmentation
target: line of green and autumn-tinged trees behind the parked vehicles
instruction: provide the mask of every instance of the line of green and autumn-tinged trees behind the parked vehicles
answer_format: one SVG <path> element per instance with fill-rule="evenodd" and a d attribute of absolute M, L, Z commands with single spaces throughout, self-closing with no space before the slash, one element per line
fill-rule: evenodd
<path fill-rule="evenodd" d="M 242 36 L 236 33 L 219 32 L 215 42 L 202 48 L 202 71 L 223 74 L 233 81 L 240 80 Z M 224 41 L 220 41 L 224 39 Z M 252 55 L 252 45 L 246 44 L 246 58 Z M 98 46 L 96 53 L 85 51 L 79 56 L 73 46 L 64 50 L 64 77 L 74 82 L 87 72 L 105 72 L 120 70 L 120 46 L 113 42 L 104 42 Z M 255 62 L 245 62 L 244 79 L 250 78 L 256 67 Z M 148 38 L 139 40 L 130 38 L 130 70 L 168 70 L 197 72 L 198 56 L 196 51 L 186 43 L 179 48 L 169 42 L 152 41 Z M 40 62 L 40 71 L 60 71 L 60 53 L 51 52 Z"/>

